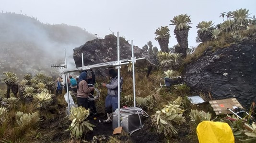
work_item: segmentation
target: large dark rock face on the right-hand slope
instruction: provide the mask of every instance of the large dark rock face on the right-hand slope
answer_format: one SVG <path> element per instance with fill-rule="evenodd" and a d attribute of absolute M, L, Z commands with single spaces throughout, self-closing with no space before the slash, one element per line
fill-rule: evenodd
<path fill-rule="evenodd" d="M 186 67 L 184 81 L 196 91 L 214 99 L 236 98 L 249 109 L 256 100 L 256 42 L 244 39 L 216 51 L 208 47 Z"/>

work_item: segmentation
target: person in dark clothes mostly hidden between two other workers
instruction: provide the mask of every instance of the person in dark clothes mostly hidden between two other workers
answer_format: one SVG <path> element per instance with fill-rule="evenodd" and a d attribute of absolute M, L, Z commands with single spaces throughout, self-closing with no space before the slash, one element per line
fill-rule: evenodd
<path fill-rule="evenodd" d="M 94 74 L 93 70 L 87 71 L 86 82 L 88 84 L 88 87 L 94 87 L 95 81 L 96 81 L 96 78 L 95 78 L 95 74 Z M 89 93 L 89 97 L 94 98 L 93 94 L 94 94 L 94 90 Z M 89 100 L 89 108 L 92 111 L 93 119 L 96 120 L 97 110 L 96 110 L 96 107 L 95 107 L 95 101 L 94 100 Z"/>

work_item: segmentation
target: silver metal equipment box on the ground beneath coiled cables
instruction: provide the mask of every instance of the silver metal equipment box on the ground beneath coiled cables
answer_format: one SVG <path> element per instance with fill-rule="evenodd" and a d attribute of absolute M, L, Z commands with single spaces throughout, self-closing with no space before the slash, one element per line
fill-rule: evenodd
<path fill-rule="evenodd" d="M 142 127 L 142 115 L 139 114 L 132 114 L 132 113 L 126 113 L 126 112 L 120 112 L 120 126 L 123 127 L 123 130 L 125 132 L 132 132 L 138 128 Z M 141 123 L 140 123 L 141 121 Z M 115 112 L 113 112 L 113 130 L 118 127 L 118 110 L 116 109 Z"/>

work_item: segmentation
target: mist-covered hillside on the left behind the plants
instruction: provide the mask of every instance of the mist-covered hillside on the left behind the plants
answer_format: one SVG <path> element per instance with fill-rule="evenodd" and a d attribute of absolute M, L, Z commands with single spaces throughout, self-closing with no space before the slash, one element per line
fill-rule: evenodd
<path fill-rule="evenodd" d="M 22 77 L 39 71 L 57 74 L 53 64 L 75 68 L 73 49 L 95 36 L 65 24 L 50 25 L 21 14 L 0 13 L 0 72 L 11 71 Z"/>

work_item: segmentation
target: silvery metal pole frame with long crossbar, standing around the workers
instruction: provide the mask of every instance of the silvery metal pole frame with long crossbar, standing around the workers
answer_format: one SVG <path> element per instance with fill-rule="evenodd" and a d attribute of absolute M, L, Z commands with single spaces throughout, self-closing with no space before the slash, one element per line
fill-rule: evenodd
<path fill-rule="evenodd" d="M 120 46 L 119 46 L 119 32 L 117 32 L 117 61 L 111 61 L 111 62 L 106 62 L 106 63 L 101 63 L 101 64 L 94 64 L 94 65 L 89 65 L 89 66 L 84 66 L 83 65 L 83 54 L 82 54 L 82 66 L 81 67 L 77 67 L 74 69 L 67 69 L 66 66 L 66 70 L 64 70 L 63 72 L 60 73 L 59 77 L 62 76 L 62 74 L 65 74 L 65 80 L 66 82 L 68 81 L 68 77 L 67 74 L 68 73 L 72 73 L 72 72 L 78 72 L 78 71 L 82 71 L 82 70 L 89 70 L 89 69 L 96 69 L 96 68 L 103 68 L 103 67 L 110 67 L 110 66 L 115 66 L 117 68 L 117 76 L 118 76 L 118 127 L 120 127 L 120 68 L 122 65 L 128 65 L 130 62 L 132 62 L 132 72 L 133 72 L 133 98 L 134 98 L 134 107 L 136 107 L 136 95 L 135 95 L 135 68 L 134 68 L 134 63 L 136 63 L 136 60 L 141 60 L 141 59 L 145 59 L 145 57 L 142 58 L 138 58 L 136 59 L 136 57 L 134 57 L 134 52 L 133 52 L 133 41 L 131 41 L 131 48 L 132 48 L 132 57 L 131 59 L 122 59 L 120 60 Z M 67 65 L 67 61 L 66 61 L 66 50 L 64 49 L 64 54 L 65 54 L 65 65 Z M 70 102 L 69 99 L 69 88 L 68 88 L 68 84 L 67 86 L 67 93 L 68 93 L 68 102 Z M 70 109 L 70 104 L 68 104 L 68 108 Z M 68 112 L 68 114 L 70 115 L 70 110 Z"/>

